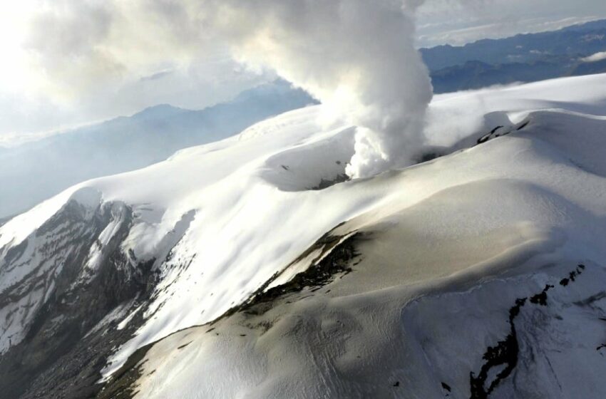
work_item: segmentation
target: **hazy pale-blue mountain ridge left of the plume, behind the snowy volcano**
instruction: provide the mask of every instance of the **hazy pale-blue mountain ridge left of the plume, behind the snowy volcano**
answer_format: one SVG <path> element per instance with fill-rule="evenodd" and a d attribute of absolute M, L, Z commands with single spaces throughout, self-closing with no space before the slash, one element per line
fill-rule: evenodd
<path fill-rule="evenodd" d="M 203 110 L 155 105 L 130 117 L 0 147 L 0 218 L 23 212 L 78 182 L 160 162 L 177 150 L 230 135 L 315 100 L 285 81 Z"/>

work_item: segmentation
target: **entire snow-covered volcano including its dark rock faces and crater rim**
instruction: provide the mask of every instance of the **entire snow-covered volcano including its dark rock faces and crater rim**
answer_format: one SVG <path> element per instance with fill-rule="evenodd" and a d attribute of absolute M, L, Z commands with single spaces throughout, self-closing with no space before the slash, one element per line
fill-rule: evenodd
<path fill-rule="evenodd" d="M 322 111 L 85 182 L 1 226 L 0 387 L 606 393 L 606 76 L 438 96 L 419 159 L 444 156 L 366 180 L 341 182 L 354 128 Z"/>

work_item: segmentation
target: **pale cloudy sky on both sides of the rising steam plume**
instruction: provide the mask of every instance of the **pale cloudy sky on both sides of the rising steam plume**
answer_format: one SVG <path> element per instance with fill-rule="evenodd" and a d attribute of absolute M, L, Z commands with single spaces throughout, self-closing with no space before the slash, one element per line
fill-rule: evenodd
<path fill-rule="evenodd" d="M 234 59 L 224 40 L 232 32 L 200 11 L 206 3 L 0 0 L 0 145 L 160 103 L 204 108 L 276 78 L 272 68 Z M 604 0 L 426 0 L 416 10 L 416 46 L 600 18 Z"/>

